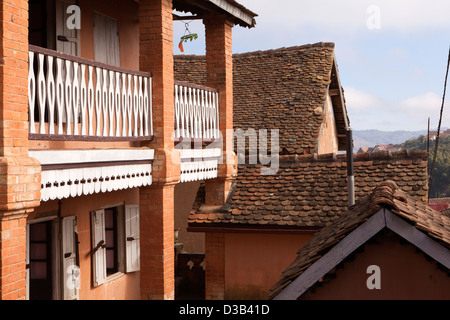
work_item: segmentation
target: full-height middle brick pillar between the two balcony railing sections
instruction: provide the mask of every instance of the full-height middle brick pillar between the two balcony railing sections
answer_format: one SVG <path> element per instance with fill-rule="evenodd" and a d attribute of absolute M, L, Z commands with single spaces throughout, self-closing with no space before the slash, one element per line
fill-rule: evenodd
<path fill-rule="evenodd" d="M 140 189 L 141 298 L 174 299 L 174 186 L 180 179 L 174 141 L 171 0 L 140 0 L 141 71 L 152 72 L 153 184 Z"/>

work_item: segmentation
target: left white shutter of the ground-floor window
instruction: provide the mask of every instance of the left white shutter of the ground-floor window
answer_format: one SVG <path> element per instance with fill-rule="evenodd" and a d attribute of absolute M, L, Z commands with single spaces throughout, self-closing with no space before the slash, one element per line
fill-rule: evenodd
<path fill-rule="evenodd" d="M 92 274 L 97 287 L 106 280 L 105 210 L 91 212 Z"/>

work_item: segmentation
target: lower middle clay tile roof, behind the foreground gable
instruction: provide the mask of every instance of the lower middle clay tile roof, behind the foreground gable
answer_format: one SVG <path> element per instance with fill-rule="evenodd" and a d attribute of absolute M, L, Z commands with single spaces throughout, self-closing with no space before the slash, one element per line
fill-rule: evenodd
<path fill-rule="evenodd" d="M 199 192 L 189 215 L 190 228 L 321 228 L 348 207 L 345 155 L 280 156 L 275 175 L 261 175 L 262 165 L 238 165 L 227 203 L 208 215 Z M 382 181 L 393 180 L 418 201 L 427 199 L 427 154 L 422 151 L 355 155 L 355 198 L 365 197 Z M 201 212 L 201 214 L 200 214 Z"/>

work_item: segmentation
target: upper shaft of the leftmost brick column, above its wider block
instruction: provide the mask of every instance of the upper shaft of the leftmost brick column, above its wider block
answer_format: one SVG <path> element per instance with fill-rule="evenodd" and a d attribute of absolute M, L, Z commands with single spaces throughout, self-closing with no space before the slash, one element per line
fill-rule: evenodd
<path fill-rule="evenodd" d="M 28 156 L 28 1 L 0 3 L 0 156 Z"/>

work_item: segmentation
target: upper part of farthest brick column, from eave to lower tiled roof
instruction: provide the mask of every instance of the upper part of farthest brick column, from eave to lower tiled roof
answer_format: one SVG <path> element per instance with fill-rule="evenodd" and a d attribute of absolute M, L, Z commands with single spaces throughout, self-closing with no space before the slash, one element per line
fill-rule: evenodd
<path fill-rule="evenodd" d="M 205 181 L 205 201 L 224 204 L 236 170 L 233 153 L 233 23 L 225 15 L 214 14 L 203 19 L 206 34 L 206 84 L 219 91 L 219 126 L 223 158 L 218 178 Z"/>

